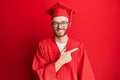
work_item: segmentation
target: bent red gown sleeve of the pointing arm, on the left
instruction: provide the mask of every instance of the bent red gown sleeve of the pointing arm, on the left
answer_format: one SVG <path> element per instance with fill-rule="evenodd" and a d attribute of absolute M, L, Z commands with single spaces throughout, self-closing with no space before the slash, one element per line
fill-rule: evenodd
<path fill-rule="evenodd" d="M 43 45 L 40 43 L 32 64 L 38 80 L 56 80 L 55 62 L 49 62 L 48 59 Z"/>

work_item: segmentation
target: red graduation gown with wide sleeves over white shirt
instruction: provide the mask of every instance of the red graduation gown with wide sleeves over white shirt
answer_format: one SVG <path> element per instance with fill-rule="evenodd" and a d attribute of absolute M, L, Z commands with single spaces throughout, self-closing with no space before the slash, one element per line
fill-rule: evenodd
<path fill-rule="evenodd" d="M 39 42 L 34 56 L 32 68 L 40 80 L 95 80 L 84 46 L 72 38 L 68 39 L 66 51 L 78 47 L 72 53 L 72 61 L 64 64 L 58 72 L 55 71 L 55 62 L 60 51 L 54 38 Z"/>

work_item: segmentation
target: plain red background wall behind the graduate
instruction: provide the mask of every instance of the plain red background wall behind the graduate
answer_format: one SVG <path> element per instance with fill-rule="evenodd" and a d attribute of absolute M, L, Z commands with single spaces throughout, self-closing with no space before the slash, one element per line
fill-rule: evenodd
<path fill-rule="evenodd" d="M 35 80 L 38 41 L 52 34 L 44 13 L 57 0 L 0 1 L 0 80 Z M 84 42 L 96 80 L 120 80 L 120 1 L 61 0 L 76 10 L 70 36 Z"/>

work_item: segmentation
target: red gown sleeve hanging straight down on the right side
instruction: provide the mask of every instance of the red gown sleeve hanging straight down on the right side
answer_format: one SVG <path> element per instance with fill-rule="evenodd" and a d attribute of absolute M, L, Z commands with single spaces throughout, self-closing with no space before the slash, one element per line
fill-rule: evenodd
<path fill-rule="evenodd" d="M 95 80 L 95 76 L 83 44 L 80 46 L 80 53 L 81 54 L 78 55 L 78 80 Z"/>

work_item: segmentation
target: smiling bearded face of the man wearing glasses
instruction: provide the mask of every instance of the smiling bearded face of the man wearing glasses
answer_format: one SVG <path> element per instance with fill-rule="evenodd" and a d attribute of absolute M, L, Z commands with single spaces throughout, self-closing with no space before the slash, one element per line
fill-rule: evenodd
<path fill-rule="evenodd" d="M 63 37 L 66 35 L 68 28 L 68 18 L 64 16 L 54 17 L 52 19 L 52 28 L 56 37 Z"/>

